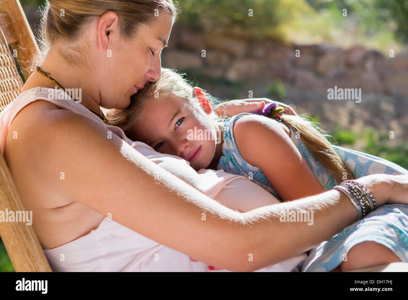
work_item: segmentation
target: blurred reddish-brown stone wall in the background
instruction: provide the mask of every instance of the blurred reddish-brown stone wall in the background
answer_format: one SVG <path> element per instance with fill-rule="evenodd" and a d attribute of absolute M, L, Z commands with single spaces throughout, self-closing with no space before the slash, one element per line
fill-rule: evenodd
<path fill-rule="evenodd" d="M 254 98 L 271 98 L 269 88 L 274 79 L 280 78 L 287 91 L 283 102 L 293 105 L 299 113 L 319 116 L 325 130 L 342 127 L 359 131 L 372 127 L 395 131 L 399 141 L 408 139 L 407 53 L 386 57 L 358 45 L 340 49 L 324 44 L 283 44 L 269 39 L 199 33 L 176 24 L 169 47 L 163 50 L 162 64 L 239 83 L 236 98 L 248 98 L 248 91 L 253 91 Z M 328 100 L 327 90 L 335 86 L 361 89 L 361 103 Z M 234 98 L 231 89 L 222 84 L 204 84 L 204 88 L 213 96 Z"/>

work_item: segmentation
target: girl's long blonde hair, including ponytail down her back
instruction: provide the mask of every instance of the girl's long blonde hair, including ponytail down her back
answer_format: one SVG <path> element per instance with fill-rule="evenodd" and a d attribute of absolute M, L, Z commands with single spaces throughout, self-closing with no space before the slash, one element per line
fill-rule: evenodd
<path fill-rule="evenodd" d="M 124 110 L 110 109 L 106 112 L 109 122 L 120 127 L 126 136 L 133 139 L 131 131 L 137 120 L 143 117 L 144 104 L 151 97 L 161 98 L 162 96 L 178 96 L 187 99 L 192 105 L 197 104 L 193 96 L 193 87 L 180 74 L 170 69 L 162 68 L 162 77 L 157 82 L 149 82 L 144 89 L 131 97 L 131 104 Z M 218 104 L 215 98 L 206 94 L 211 104 Z M 165 98 L 162 98 L 165 99 Z M 285 115 L 281 120 L 289 127 L 293 128 L 299 138 L 305 144 L 310 154 L 335 176 L 339 184 L 345 179 L 353 179 L 354 175 L 348 169 L 344 161 L 333 149 L 326 139 L 324 132 L 312 122 L 301 116 Z"/>

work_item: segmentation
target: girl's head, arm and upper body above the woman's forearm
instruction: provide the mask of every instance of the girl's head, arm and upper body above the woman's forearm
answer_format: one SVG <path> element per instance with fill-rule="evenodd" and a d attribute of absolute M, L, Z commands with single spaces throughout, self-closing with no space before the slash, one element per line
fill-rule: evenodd
<path fill-rule="evenodd" d="M 110 110 L 106 118 L 132 140 L 179 156 L 195 170 L 243 175 L 282 201 L 321 193 L 345 179 L 406 172 L 381 158 L 332 146 L 299 116 L 266 117 L 276 108 L 273 103 L 256 112 L 264 116 L 241 113 L 217 120 L 211 102 L 202 89 L 163 68 L 158 82 L 133 95 L 126 110 Z"/>

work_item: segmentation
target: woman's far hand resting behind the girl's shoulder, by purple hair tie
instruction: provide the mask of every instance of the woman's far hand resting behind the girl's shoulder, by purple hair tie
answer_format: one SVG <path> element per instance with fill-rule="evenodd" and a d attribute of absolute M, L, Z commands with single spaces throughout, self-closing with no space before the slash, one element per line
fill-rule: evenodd
<path fill-rule="evenodd" d="M 214 108 L 214 111 L 219 116 L 232 117 L 239 113 L 251 113 L 252 111 L 261 110 L 264 108 L 266 102 L 273 101 L 268 98 L 248 98 L 242 100 L 230 100 L 218 104 Z M 275 102 L 285 109 L 283 113 L 297 116 L 292 107 L 281 102 L 277 101 Z M 280 118 L 280 114 L 277 114 L 275 118 Z"/>

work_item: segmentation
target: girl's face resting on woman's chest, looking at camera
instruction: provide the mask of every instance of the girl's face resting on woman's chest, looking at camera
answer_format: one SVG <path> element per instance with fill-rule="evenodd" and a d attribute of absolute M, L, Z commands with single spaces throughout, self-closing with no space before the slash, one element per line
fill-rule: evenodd
<path fill-rule="evenodd" d="M 144 102 L 143 116 L 135 122 L 129 136 L 157 152 L 188 160 L 195 170 L 208 167 L 217 136 L 204 110 L 174 95 L 151 97 Z"/>

